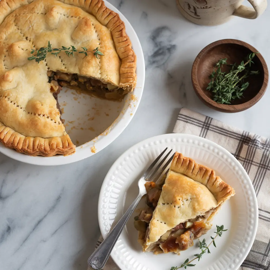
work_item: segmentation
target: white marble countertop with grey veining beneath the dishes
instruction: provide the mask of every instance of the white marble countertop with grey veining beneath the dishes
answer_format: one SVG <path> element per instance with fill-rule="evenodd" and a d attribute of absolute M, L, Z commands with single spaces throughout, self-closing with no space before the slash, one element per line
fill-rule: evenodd
<path fill-rule="evenodd" d="M 174 0 L 109 0 L 129 19 L 143 47 L 146 82 L 136 115 L 103 151 L 77 163 L 42 167 L 0 154 L 0 269 L 85 270 L 99 237 L 97 202 L 113 162 L 133 144 L 171 133 L 181 107 L 270 138 L 270 91 L 235 114 L 206 107 L 191 85 L 191 66 L 209 43 L 250 43 L 270 63 L 270 9 L 256 20 L 214 27 L 186 21 Z"/>

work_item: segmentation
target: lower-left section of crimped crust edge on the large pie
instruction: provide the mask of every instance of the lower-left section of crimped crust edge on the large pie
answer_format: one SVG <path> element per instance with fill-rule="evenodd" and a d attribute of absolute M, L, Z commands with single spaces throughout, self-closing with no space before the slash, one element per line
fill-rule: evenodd
<path fill-rule="evenodd" d="M 70 155 L 76 146 L 68 135 L 43 139 L 26 137 L 0 122 L 0 141 L 4 146 L 30 156 L 51 157 L 56 154 Z"/>

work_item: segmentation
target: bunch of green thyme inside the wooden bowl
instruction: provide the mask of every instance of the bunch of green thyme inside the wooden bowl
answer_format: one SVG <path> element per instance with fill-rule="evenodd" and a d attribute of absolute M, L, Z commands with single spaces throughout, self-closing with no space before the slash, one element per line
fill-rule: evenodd
<path fill-rule="evenodd" d="M 231 104 L 232 100 L 236 98 L 240 99 L 243 96 L 244 90 L 249 86 L 249 82 L 246 82 L 245 79 L 249 75 L 259 73 L 258 70 L 253 71 L 249 69 L 251 64 L 254 64 L 252 59 L 256 53 L 250 53 L 247 56 L 247 61 L 242 61 L 240 65 L 236 63 L 229 65 L 231 66 L 231 70 L 228 73 L 221 71 L 222 66 L 227 65 L 227 58 L 217 62 L 210 75 L 211 81 L 206 88 L 214 94 L 214 101 L 221 104 Z"/>

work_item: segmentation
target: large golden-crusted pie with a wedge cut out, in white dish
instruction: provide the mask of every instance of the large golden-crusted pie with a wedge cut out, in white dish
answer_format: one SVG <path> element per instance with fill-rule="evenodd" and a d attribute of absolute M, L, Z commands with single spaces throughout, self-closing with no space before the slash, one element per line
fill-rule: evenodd
<path fill-rule="evenodd" d="M 31 49 L 75 46 L 29 61 Z M 103 55 L 95 55 L 93 50 Z M 0 141 L 32 156 L 72 154 L 57 94 L 78 86 L 92 95 L 121 100 L 136 84 L 136 55 L 124 22 L 102 0 L 0 1 Z"/>

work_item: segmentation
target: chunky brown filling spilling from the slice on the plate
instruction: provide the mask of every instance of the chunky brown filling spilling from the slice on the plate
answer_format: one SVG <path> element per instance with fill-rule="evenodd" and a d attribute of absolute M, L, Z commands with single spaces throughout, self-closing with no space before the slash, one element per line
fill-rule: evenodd
<path fill-rule="evenodd" d="M 138 231 L 138 241 L 143 247 L 147 238 L 149 238 L 149 223 L 157 206 L 162 185 L 156 185 L 154 182 L 146 183 L 148 208 L 142 210 L 134 218 L 134 227 Z M 211 229 L 210 221 L 216 210 L 217 208 L 211 209 L 203 215 L 178 224 L 163 234 L 157 242 L 151 244 L 146 251 L 153 251 L 155 254 L 163 252 L 180 253 L 180 251 L 188 249 L 193 246 L 194 238 L 200 237 Z"/>

